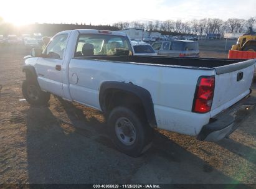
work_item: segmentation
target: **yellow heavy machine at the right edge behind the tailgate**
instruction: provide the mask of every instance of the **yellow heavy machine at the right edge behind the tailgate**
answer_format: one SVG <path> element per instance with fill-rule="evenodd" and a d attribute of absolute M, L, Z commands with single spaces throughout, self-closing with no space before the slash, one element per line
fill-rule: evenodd
<path fill-rule="evenodd" d="M 242 35 L 237 39 L 237 44 L 232 45 L 231 50 L 256 52 L 256 32 L 249 28 L 249 33 Z"/>

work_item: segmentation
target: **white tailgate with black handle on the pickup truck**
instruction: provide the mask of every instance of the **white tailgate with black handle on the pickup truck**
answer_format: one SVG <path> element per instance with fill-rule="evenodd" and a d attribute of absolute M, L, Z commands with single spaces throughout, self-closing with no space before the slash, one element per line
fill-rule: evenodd
<path fill-rule="evenodd" d="M 214 69 L 216 78 L 211 117 L 223 109 L 229 108 L 250 93 L 254 76 L 254 60 L 246 60 Z"/>

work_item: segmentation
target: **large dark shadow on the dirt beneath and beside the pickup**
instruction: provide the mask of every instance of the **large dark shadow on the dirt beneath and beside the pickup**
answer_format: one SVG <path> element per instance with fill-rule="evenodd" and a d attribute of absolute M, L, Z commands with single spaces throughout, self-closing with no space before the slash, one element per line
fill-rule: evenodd
<path fill-rule="evenodd" d="M 158 132 L 141 157 L 121 154 L 103 134 L 104 122 L 62 106 L 72 124 L 47 107 L 27 110 L 29 183 L 239 183 Z"/>

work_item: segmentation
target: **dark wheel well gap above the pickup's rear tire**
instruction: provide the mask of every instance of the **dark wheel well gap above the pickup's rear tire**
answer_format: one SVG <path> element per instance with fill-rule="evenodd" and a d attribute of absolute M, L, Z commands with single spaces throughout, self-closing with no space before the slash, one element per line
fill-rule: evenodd
<path fill-rule="evenodd" d="M 128 91 L 108 90 L 104 95 L 103 111 L 108 115 L 116 106 L 125 106 L 140 116 L 146 116 L 145 109 L 141 99 Z"/>

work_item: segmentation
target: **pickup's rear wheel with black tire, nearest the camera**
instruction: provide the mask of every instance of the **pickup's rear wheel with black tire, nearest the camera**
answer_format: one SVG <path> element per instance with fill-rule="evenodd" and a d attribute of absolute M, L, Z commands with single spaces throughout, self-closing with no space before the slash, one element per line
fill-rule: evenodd
<path fill-rule="evenodd" d="M 108 129 L 113 143 L 118 150 L 131 157 L 138 157 L 151 146 L 153 129 L 147 124 L 143 117 L 144 116 L 140 116 L 139 118 L 137 114 L 131 111 L 131 109 L 122 106 L 114 108 L 108 117 Z M 120 134 L 120 128 L 128 127 L 123 125 L 119 126 L 118 124 L 120 124 L 120 120 L 123 120 L 126 123 L 128 122 L 128 125 L 132 125 L 131 127 L 133 129 L 128 129 L 128 132 L 126 132 L 127 129 L 124 129 L 125 131 Z M 133 132 L 136 134 L 134 135 Z M 132 137 L 130 137 L 130 135 Z M 125 144 L 125 139 L 129 139 L 129 137 L 130 140 L 126 141 L 128 144 Z"/>

